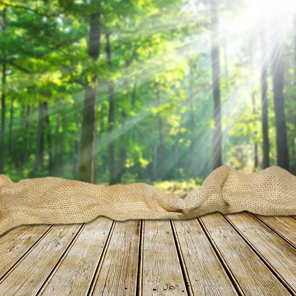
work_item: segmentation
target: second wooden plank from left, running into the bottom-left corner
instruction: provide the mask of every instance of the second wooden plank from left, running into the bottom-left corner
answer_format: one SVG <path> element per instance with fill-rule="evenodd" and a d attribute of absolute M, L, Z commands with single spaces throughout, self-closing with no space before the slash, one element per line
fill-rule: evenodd
<path fill-rule="evenodd" d="M 80 228 L 55 225 L 0 283 L 0 295 L 35 295 Z"/>

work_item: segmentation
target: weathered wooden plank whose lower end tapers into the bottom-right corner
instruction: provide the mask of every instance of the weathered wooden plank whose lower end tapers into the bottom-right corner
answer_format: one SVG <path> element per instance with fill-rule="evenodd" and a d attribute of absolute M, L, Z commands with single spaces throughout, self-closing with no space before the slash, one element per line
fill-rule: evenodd
<path fill-rule="evenodd" d="M 256 250 L 257 255 L 296 294 L 296 250 L 249 213 L 226 215 L 226 219 Z M 288 288 L 289 289 L 289 288 Z"/>

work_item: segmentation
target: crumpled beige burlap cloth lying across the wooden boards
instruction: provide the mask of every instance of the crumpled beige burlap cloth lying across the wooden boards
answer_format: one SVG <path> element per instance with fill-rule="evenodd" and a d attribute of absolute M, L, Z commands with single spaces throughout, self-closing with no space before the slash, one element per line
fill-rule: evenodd
<path fill-rule="evenodd" d="M 253 174 L 222 166 L 181 199 L 145 183 L 104 186 L 53 177 L 13 183 L 0 175 L 0 234 L 21 224 L 81 223 L 98 216 L 189 219 L 216 211 L 296 215 L 296 177 L 276 166 Z"/>

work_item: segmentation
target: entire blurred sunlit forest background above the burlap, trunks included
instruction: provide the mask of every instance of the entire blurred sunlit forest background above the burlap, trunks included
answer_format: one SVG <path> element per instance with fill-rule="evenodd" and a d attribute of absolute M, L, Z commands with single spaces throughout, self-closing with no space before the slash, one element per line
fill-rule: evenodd
<path fill-rule="evenodd" d="M 296 174 L 289 5 L 0 0 L 0 28 L 0 174 L 13 181 L 195 188 L 221 165 Z"/>

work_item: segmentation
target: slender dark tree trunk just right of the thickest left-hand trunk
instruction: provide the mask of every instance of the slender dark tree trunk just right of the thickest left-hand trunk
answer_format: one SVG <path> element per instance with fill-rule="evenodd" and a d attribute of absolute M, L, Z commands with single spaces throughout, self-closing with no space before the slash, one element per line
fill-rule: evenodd
<path fill-rule="evenodd" d="M 110 34 L 106 34 L 106 51 L 107 51 L 107 59 L 109 67 L 111 68 L 111 45 L 110 45 Z M 109 115 L 108 115 L 108 134 L 109 136 L 112 134 L 113 125 L 114 125 L 114 87 L 113 82 L 109 81 L 108 83 L 109 88 Z M 115 177 L 115 161 L 114 161 L 114 142 L 113 139 L 109 141 L 108 144 L 109 148 L 109 184 L 114 185 L 116 184 L 116 177 Z"/>

